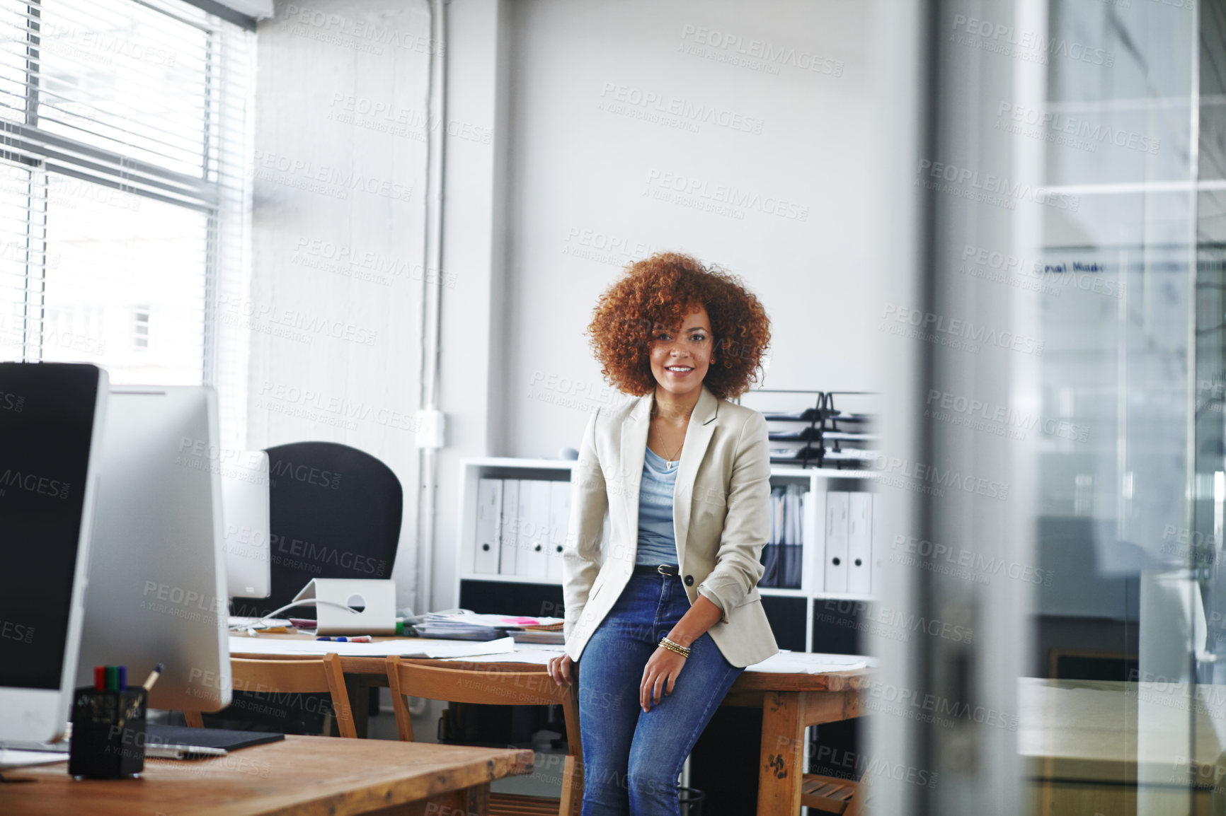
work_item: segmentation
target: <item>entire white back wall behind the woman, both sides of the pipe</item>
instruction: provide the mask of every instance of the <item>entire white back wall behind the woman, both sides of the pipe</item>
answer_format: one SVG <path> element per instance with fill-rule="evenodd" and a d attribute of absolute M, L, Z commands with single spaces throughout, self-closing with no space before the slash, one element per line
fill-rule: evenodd
<path fill-rule="evenodd" d="M 435 609 L 456 600 L 459 461 L 555 456 L 576 445 L 592 408 L 617 398 L 600 381 L 582 330 L 626 262 L 678 249 L 743 276 L 774 321 L 771 387 L 877 386 L 868 365 L 877 322 L 864 297 L 868 247 L 889 235 L 872 229 L 874 189 L 866 184 L 877 154 L 875 61 L 862 5 L 452 0 L 443 270 L 427 276 L 419 265 L 428 54 L 412 49 L 428 36 L 424 0 L 320 0 L 309 9 L 319 13 L 291 15 L 278 2 L 260 27 L 250 306 L 378 336 L 370 344 L 300 342 L 271 336 L 276 321 L 259 321 L 249 444 L 332 439 L 396 470 L 406 496 L 394 571 L 401 603 L 416 603 L 413 435 L 375 419 L 347 429 L 326 423 L 337 419 L 330 399 L 412 417 L 423 277 L 444 287 L 439 397 L 447 431 Z M 738 54 L 767 47 L 782 59 Z M 620 93 L 656 94 L 660 109 L 644 111 L 656 120 L 601 109 Z M 380 113 L 343 110 L 351 97 L 354 108 L 381 105 Z M 669 105 L 710 109 L 714 120 L 669 116 Z M 337 120 L 349 113 L 352 121 Z M 661 115 L 683 126 L 661 124 Z M 284 158 L 302 165 L 278 170 Z M 392 200 L 375 187 L 341 200 L 336 173 L 351 170 L 412 192 Z M 651 197 L 663 191 L 664 174 L 706 185 L 706 197 Z M 718 203 L 712 197 L 723 185 L 752 201 L 727 203 L 732 214 L 687 206 Z M 407 271 L 381 285 L 306 266 L 329 261 L 310 254 L 316 240 L 324 243 L 316 252 L 326 243 L 348 245 L 373 252 L 376 266 Z M 320 396 L 304 404 L 305 396 L 288 391 L 277 397 L 280 386 Z"/>

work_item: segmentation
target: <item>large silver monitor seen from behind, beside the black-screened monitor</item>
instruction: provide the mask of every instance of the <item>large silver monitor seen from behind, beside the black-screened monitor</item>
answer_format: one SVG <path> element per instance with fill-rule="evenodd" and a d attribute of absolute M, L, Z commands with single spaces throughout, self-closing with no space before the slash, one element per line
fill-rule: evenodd
<path fill-rule="evenodd" d="M 150 706 L 229 703 L 217 397 L 207 386 L 110 390 L 77 678 L 166 669 Z"/>

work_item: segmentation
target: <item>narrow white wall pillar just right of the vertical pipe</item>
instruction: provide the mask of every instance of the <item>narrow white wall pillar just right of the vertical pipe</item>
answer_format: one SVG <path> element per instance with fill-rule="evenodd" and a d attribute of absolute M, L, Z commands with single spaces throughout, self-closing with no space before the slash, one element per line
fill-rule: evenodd
<path fill-rule="evenodd" d="M 439 452 L 432 609 L 456 605 L 460 459 L 498 450 L 505 321 L 508 55 L 505 0 L 447 6 L 447 140 L 439 401 L 446 446 Z"/>

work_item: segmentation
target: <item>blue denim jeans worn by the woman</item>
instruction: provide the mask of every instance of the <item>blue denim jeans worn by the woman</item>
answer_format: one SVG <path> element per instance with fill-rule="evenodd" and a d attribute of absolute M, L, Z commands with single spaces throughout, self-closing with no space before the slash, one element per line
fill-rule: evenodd
<path fill-rule="evenodd" d="M 689 608 L 679 577 L 631 575 L 584 647 L 577 663 L 582 816 L 679 816 L 677 778 L 685 757 L 744 671 L 702 635 L 690 644 L 673 693 L 662 692 L 658 705 L 642 711 L 647 658 Z"/>

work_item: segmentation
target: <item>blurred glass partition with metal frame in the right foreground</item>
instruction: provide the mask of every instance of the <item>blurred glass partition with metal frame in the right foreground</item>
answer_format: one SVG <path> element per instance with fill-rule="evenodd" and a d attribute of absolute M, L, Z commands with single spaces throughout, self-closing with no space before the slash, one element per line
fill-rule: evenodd
<path fill-rule="evenodd" d="M 886 347 L 923 375 L 883 491 L 891 540 L 931 543 L 894 576 L 910 610 L 975 637 L 886 665 L 917 705 L 873 734 L 939 782 L 879 787 L 915 814 L 1226 812 L 1226 4 L 926 26 L 923 284 Z"/>

